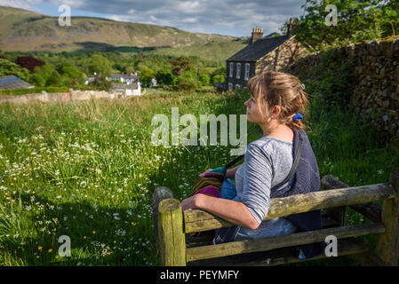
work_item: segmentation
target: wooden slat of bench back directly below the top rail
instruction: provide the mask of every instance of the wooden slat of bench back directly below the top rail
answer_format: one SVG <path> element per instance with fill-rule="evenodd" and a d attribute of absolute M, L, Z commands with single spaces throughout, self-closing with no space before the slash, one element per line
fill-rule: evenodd
<path fill-rule="evenodd" d="M 310 232 L 292 233 L 276 237 L 257 240 L 232 241 L 218 245 L 210 245 L 196 248 L 187 248 L 187 261 L 207 259 L 220 256 L 232 256 L 243 253 L 251 253 L 274 248 L 299 246 L 309 243 L 324 241 L 328 235 L 334 235 L 337 239 L 358 237 L 371 233 L 384 233 L 382 224 L 354 225 L 330 229 L 322 229 Z"/>

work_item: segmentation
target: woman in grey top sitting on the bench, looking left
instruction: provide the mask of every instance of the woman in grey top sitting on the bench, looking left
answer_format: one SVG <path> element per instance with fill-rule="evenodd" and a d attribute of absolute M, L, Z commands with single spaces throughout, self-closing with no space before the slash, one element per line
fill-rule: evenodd
<path fill-rule="evenodd" d="M 238 225 L 234 241 L 320 227 L 319 211 L 296 215 L 292 220 L 279 217 L 263 221 L 270 198 L 319 190 L 317 162 L 300 122 L 299 113 L 306 110 L 308 102 L 304 85 L 293 75 L 267 71 L 252 77 L 247 86 L 251 93 L 251 98 L 244 103 L 247 119 L 259 124 L 263 137 L 247 146 L 242 165 L 227 170 L 222 198 L 199 193 L 182 201 L 182 209 L 203 209 Z M 274 188 L 290 173 L 295 155 L 294 141 L 299 135 L 306 155 L 299 160 L 296 175 Z M 301 176 L 296 182 L 299 169 Z M 235 185 L 229 178 L 235 178 Z"/>

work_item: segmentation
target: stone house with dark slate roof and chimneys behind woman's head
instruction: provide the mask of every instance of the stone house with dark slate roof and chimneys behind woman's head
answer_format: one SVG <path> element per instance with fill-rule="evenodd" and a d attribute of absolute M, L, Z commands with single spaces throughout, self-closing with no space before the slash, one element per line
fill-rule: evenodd
<path fill-rule="evenodd" d="M 253 28 L 251 43 L 226 61 L 225 90 L 246 88 L 248 80 L 265 70 L 282 71 L 307 49 L 291 36 L 295 22 L 290 19 L 285 36 L 263 37 L 262 28 Z"/>

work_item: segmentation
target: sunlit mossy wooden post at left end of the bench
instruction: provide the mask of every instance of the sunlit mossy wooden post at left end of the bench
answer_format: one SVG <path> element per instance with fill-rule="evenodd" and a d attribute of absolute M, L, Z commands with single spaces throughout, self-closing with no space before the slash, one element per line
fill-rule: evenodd
<path fill-rule="evenodd" d="M 158 248 L 163 266 L 186 266 L 186 240 L 180 201 L 165 199 L 158 207 Z"/>

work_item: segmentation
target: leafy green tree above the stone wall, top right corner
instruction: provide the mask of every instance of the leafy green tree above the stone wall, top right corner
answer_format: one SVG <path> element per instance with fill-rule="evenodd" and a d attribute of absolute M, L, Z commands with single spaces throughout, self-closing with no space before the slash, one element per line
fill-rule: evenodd
<path fill-rule="evenodd" d="M 329 25 L 329 4 L 337 8 L 336 26 Z M 381 38 L 387 27 L 394 33 L 399 28 L 397 0 L 307 0 L 302 7 L 306 15 L 292 34 L 315 51 Z"/>

